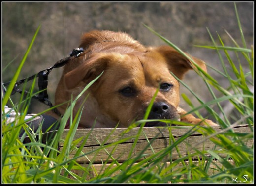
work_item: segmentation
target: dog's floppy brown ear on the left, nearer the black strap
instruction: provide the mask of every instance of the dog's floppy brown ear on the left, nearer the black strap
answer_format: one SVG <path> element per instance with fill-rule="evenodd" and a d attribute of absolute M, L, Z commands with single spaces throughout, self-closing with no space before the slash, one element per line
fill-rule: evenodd
<path fill-rule="evenodd" d="M 79 82 L 88 84 L 99 76 L 106 68 L 107 59 L 100 55 L 94 55 L 64 75 L 67 89 L 75 88 Z"/>

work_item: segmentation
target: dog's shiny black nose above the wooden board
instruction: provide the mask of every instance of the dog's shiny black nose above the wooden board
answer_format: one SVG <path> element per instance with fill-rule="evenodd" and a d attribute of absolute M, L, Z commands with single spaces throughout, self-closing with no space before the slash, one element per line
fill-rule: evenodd
<path fill-rule="evenodd" d="M 151 108 L 150 118 L 164 118 L 165 113 L 169 111 L 169 106 L 164 102 L 155 102 Z"/>

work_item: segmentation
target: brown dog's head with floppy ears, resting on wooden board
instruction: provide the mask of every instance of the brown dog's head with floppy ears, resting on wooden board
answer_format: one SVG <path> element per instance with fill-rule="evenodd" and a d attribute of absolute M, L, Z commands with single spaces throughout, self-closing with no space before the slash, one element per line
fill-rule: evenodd
<path fill-rule="evenodd" d="M 92 53 L 88 58 L 77 59 L 81 64 L 64 75 L 64 84 L 69 91 L 84 87 L 104 71 L 89 88 L 90 96 L 85 102 L 85 112 L 99 121 L 96 127 L 115 127 L 118 122 L 119 127 L 128 127 L 132 121 L 142 119 L 158 88 L 149 119 L 178 120 L 179 82 L 170 72 L 182 79 L 195 64 L 206 71 L 203 61 L 191 59 L 193 62 L 169 46 L 143 52 Z M 84 127 L 93 125 L 86 118 L 80 123 Z"/>

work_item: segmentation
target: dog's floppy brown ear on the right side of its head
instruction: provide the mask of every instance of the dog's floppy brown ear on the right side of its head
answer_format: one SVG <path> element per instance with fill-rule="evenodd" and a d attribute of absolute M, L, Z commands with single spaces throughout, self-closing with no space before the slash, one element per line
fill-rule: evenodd
<path fill-rule="evenodd" d="M 170 46 L 160 46 L 155 50 L 167 60 L 171 72 L 173 72 L 179 79 L 182 79 L 183 75 L 188 70 L 192 69 L 192 66 L 195 67 L 192 61 Z M 186 53 L 186 55 L 190 56 L 192 60 L 206 72 L 206 66 L 201 59 L 195 58 L 188 53 Z M 195 67 L 195 69 L 197 68 Z"/>

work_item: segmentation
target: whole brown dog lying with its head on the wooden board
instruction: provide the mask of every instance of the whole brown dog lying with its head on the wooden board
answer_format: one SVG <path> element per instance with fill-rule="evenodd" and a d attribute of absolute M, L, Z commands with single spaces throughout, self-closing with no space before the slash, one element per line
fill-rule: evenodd
<path fill-rule="evenodd" d="M 76 113 L 86 98 L 80 128 L 128 127 L 142 119 L 159 87 L 149 119 L 175 119 L 192 124 L 216 125 L 210 120 L 195 118 L 179 106 L 179 79 L 192 69 L 192 62 L 172 47 L 148 48 L 126 33 L 92 31 L 82 37 L 79 47 L 85 52 L 65 65 L 55 93 L 55 104 L 75 98 L 84 87 L 101 77 L 84 93 L 74 107 Z M 203 61 L 192 57 L 206 71 Z M 58 107 L 64 114 L 67 104 Z M 166 126 L 149 122 L 146 126 Z"/>

